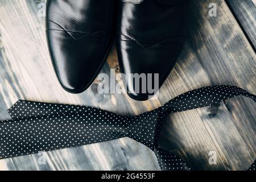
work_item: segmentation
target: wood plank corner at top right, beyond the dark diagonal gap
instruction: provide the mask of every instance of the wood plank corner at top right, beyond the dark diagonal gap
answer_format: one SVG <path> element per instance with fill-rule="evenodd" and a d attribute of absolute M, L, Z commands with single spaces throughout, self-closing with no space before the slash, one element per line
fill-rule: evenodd
<path fill-rule="evenodd" d="M 226 0 L 245 35 L 256 50 L 256 1 Z"/>

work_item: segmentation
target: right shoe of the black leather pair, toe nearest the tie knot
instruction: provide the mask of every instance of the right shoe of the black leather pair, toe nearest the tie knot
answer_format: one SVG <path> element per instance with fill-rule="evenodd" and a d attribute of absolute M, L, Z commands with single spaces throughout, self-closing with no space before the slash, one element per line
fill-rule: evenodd
<path fill-rule="evenodd" d="M 148 100 L 155 94 L 148 89 L 162 86 L 183 49 L 189 0 L 119 0 L 118 11 L 116 43 L 121 71 L 129 77 L 127 93 Z M 157 73 L 159 84 L 148 77 L 135 84 L 131 73 Z"/>

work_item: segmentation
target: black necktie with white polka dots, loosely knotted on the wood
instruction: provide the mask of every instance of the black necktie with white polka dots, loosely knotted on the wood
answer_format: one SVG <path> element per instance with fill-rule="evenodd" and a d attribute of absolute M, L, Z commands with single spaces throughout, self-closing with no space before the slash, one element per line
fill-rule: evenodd
<path fill-rule="evenodd" d="M 236 86 L 209 86 L 181 94 L 164 106 L 134 117 L 94 107 L 18 101 L 0 122 L 0 159 L 129 137 L 155 152 L 162 170 L 190 170 L 177 156 L 158 146 L 164 119 L 171 113 L 205 107 L 245 96 Z M 255 170 L 254 164 L 249 169 Z"/>

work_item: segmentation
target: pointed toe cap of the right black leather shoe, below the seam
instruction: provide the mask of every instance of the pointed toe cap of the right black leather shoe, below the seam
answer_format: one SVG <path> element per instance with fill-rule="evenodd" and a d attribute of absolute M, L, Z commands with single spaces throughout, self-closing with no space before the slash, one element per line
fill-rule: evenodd
<path fill-rule="evenodd" d="M 140 45 L 134 41 L 119 40 L 117 48 L 121 71 L 128 77 L 135 73 L 146 76 L 146 79 L 139 84 L 134 84 L 129 81 L 132 79 L 129 79 L 126 83 L 127 94 L 135 100 L 144 101 L 158 93 L 174 67 L 182 47 L 183 45 L 165 42 Z M 146 92 L 141 92 L 143 85 L 146 85 Z M 139 92 L 136 86 L 139 86 Z M 135 92 L 136 89 L 137 92 Z M 148 92 L 148 89 L 151 91 Z"/>

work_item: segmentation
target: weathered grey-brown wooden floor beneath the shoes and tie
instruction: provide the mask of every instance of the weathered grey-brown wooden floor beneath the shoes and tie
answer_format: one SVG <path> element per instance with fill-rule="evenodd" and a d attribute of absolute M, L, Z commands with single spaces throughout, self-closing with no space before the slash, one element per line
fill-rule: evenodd
<path fill-rule="evenodd" d="M 155 109 L 178 94 L 202 86 L 230 84 L 256 93 L 256 5 L 251 0 L 192 0 L 189 38 L 158 100 L 137 102 L 126 94 L 61 89 L 49 59 L 44 17 L 36 0 L 0 0 L 0 120 L 17 100 L 100 107 L 135 115 Z M 208 15 L 216 3 L 217 17 Z M 115 49 L 102 72 L 118 72 Z M 245 170 L 256 159 L 256 105 L 237 97 L 220 105 L 170 115 L 159 143 L 193 169 Z M 210 165 L 209 152 L 217 164 Z M 155 155 L 129 138 L 0 160 L 1 170 L 159 170 Z"/>

